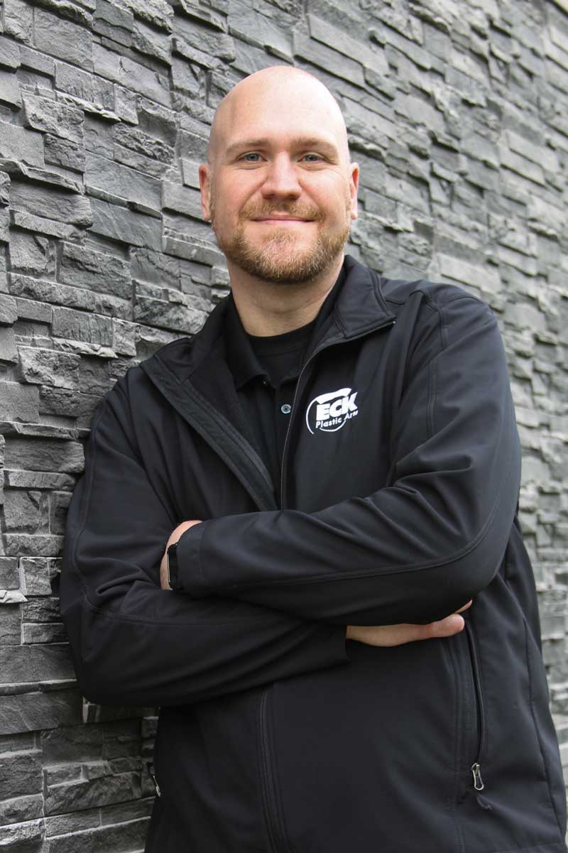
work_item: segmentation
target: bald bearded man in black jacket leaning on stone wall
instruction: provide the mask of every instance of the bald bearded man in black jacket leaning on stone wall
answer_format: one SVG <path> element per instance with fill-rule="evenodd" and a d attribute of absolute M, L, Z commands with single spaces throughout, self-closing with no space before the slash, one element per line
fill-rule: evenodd
<path fill-rule="evenodd" d="M 148 853 L 565 851 L 496 321 L 345 258 L 357 182 L 315 78 L 235 86 L 232 294 L 93 419 L 61 609 L 88 698 L 161 706 Z"/>

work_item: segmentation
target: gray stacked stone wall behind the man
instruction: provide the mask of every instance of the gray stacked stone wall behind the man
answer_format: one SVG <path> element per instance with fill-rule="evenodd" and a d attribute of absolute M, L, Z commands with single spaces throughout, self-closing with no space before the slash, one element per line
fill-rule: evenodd
<path fill-rule="evenodd" d="M 349 252 L 496 311 L 520 517 L 568 765 L 568 8 L 552 0 L 0 2 L 0 847 L 142 850 L 157 709 L 90 705 L 58 609 L 101 396 L 227 292 L 197 164 L 217 103 L 291 63 L 362 169 Z"/>

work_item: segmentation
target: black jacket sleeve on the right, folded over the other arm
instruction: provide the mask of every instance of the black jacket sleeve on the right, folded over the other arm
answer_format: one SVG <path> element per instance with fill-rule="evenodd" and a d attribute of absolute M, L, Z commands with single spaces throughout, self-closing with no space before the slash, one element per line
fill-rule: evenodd
<path fill-rule="evenodd" d="M 490 583 L 520 478 L 501 335 L 490 309 L 467 294 L 426 313 L 404 353 L 388 485 L 310 514 L 195 525 L 177 548 L 190 595 L 337 624 L 428 623 Z"/>

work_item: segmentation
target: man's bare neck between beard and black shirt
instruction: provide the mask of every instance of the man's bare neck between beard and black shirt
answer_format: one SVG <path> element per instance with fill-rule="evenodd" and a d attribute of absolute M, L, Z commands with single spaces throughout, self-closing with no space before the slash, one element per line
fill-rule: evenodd
<path fill-rule="evenodd" d="M 314 320 L 337 281 L 343 257 L 340 255 L 320 276 L 301 284 L 263 281 L 229 262 L 233 299 L 246 332 L 268 337 L 292 332 Z"/>

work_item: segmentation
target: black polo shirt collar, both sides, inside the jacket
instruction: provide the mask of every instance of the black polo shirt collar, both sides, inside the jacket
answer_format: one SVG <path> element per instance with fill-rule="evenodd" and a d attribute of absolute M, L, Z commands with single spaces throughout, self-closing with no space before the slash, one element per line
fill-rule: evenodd
<path fill-rule="evenodd" d="M 341 267 L 339 276 L 331 291 L 327 293 L 327 297 L 322 303 L 322 307 L 318 311 L 316 319 L 316 330 L 322 328 L 322 323 L 331 316 L 335 299 L 339 290 L 345 281 L 345 264 Z M 252 343 L 243 328 L 241 317 L 236 309 L 235 299 L 233 294 L 229 293 L 227 299 L 227 310 L 224 316 L 223 335 L 225 340 L 225 355 L 229 369 L 235 380 L 235 388 L 238 391 L 246 382 L 254 379 L 256 376 L 265 376 L 268 378 L 266 370 L 258 361 L 258 357 L 252 348 Z"/>

